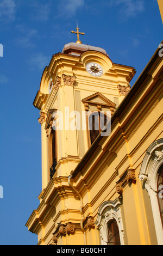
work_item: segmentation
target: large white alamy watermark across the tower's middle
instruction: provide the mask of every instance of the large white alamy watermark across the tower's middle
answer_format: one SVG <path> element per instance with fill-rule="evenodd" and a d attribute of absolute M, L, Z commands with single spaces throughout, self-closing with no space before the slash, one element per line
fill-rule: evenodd
<path fill-rule="evenodd" d="M 109 136 L 111 131 L 110 111 L 78 111 L 70 112 L 69 107 L 65 107 L 65 113 L 54 111 L 52 117 L 53 130 L 100 130 L 101 136 Z"/>

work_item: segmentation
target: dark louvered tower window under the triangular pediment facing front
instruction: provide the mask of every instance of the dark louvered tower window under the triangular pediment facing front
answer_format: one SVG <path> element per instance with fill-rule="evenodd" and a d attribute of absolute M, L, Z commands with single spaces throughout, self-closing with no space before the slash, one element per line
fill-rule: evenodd
<path fill-rule="evenodd" d="M 89 116 L 90 142 L 95 141 L 103 127 L 106 125 L 106 115 L 102 112 L 95 111 Z"/>

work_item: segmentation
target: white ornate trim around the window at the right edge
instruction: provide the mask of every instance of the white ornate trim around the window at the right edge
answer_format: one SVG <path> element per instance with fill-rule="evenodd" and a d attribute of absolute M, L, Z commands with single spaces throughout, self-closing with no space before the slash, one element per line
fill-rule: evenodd
<path fill-rule="evenodd" d="M 145 181 L 145 187 L 151 200 L 154 225 L 158 245 L 163 245 L 163 229 L 157 198 L 158 170 L 163 163 L 163 139 L 153 142 L 143 159 L 139 179 Z"/>

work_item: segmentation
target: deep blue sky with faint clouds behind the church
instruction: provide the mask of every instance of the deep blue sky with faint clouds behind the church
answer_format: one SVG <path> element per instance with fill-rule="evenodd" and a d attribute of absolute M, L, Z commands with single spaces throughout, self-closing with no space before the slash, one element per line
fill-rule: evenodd
<path fill-rule="evenodd" d="M 162 41 L 156 0 L 0 0 L 0 245 L 36 245 L 25 224 L 39 206 L 41 126 L 33 106 L 52 54 L 76 42 L 134 66 L 131 86 Z"/>

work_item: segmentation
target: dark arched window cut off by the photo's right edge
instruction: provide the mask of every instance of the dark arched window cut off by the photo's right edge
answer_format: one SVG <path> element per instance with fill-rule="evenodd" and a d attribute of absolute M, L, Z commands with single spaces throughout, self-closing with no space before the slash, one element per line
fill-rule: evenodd
<path fill-rule="evenodd" d="M 163 227 L 163 169 L 159 173 L 158 177 L 158 203 L 160 209 L 160 217 Z"/>

